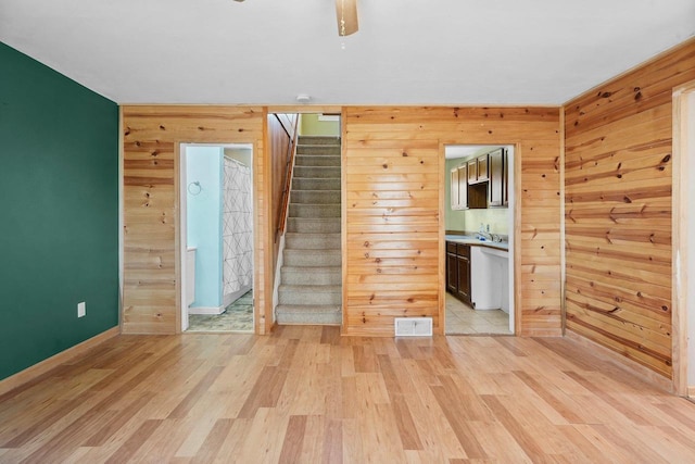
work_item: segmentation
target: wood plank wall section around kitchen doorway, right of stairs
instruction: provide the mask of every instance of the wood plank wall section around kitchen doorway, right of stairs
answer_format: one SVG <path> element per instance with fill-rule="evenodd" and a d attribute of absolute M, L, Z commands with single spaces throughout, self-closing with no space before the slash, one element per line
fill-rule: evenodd
<path fill-rule="evenodd" d="M 441 143 L 516 146 L 517 334 L 559 335 L 560 109 L 343 110 L 343 334 L 393 335 L 444 296 Z"/>

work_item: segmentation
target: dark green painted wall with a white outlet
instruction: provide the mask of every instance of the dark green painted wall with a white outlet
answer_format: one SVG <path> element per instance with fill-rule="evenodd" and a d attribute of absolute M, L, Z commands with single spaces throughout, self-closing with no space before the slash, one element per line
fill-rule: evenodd
<path fill-rule="evenodd" d="M 3 379 L 118 325 L 118 105 L 0 42 L 0 153 Z"/>

